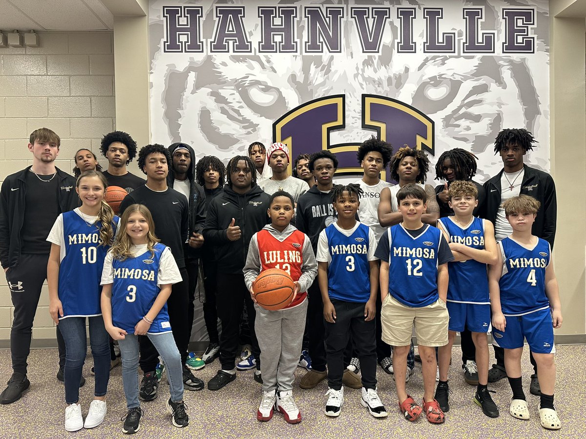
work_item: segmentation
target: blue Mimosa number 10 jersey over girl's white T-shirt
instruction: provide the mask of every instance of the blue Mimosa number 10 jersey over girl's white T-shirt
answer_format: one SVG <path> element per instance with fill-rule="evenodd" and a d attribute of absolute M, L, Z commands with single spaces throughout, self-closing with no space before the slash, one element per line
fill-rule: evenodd
<path fill-rule="evenodd" d="M 83 216 L 82 216 L 83 215 Z M 118 217 L 112 221 L 116 234 Z M 101 221 L 76 208 L 57 217 L 47 241 L 59 245 L 60 266 L 57 293 L 63 306 L 63 317 L 101 315 L 100 277 L 110 243 L 101 245 Z"/>

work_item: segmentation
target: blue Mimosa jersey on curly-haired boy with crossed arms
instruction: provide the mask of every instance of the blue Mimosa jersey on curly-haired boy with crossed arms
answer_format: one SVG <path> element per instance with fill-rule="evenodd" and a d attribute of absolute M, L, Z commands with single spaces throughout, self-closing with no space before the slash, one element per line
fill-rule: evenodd
<path fill-rule="evenodd" d="M 449 242 L 484 250 L 484 219 L 473 218 L 471 224 L 462 228 L 451 217 L 440 218 L 438 222 L 448 232 Z M 448 301 L 461 303 L 490 303 L 486 264 L 468 259 L 448 264 Z"/>

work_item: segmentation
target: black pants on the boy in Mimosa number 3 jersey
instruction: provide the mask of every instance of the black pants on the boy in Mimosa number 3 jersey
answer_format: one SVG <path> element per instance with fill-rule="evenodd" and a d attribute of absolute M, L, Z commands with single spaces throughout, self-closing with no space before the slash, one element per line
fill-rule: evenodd
<path fill-rule="evenodd" d="M 336 308 L 336 323 L 324 320 L 328 386 L 334 390 L 342 388 L 343 357 L 352 334 L 354 349 L 360 360 L 362 385 L 366 389 L 376 389 L 376 322 L 364 321 L 364 303 L 330 300 Z"/>

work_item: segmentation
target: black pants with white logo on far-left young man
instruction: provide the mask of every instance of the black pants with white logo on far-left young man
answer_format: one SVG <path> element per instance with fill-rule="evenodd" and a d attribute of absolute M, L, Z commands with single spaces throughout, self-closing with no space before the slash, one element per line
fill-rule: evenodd
<path fill-rule="evenodd" d="M 6 272 L 10 289 L 14 316 L 10 331 L 10 351 L 14 372 L 26 375 L 30 354 L 33 320 L 39 304 L 40 290 L 47 279 L 47 262 L 49 255 L 22 253 L 16 267 Z M 59 365 L 65 365 L 65 342 L 57 325 L 57 347 L 59 347 Z"/>

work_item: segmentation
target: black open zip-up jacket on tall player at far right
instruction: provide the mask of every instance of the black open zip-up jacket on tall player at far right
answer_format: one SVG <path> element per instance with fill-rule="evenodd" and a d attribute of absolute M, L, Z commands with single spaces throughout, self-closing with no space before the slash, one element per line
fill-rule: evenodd
<path fill-rule="evenodd" d="M 553 248 L 557 221 L 556 184 L 554 184 L 553 179 L 547 172 L 540 171 L 526 164 L 523 166 L 525 172 L 523 174 L 520 193 L 529 195 L 541 203 L 531 232 L 533 235 L 545 239 L 550 243 L 551 248 Z M 496 221 L 496 212 L 499 210 L 501 204 L 500 179 L 503 172 L 504 169 L 484 184 L 486 191 L 484 218 L 490 219 L 493 224 Z"/>

